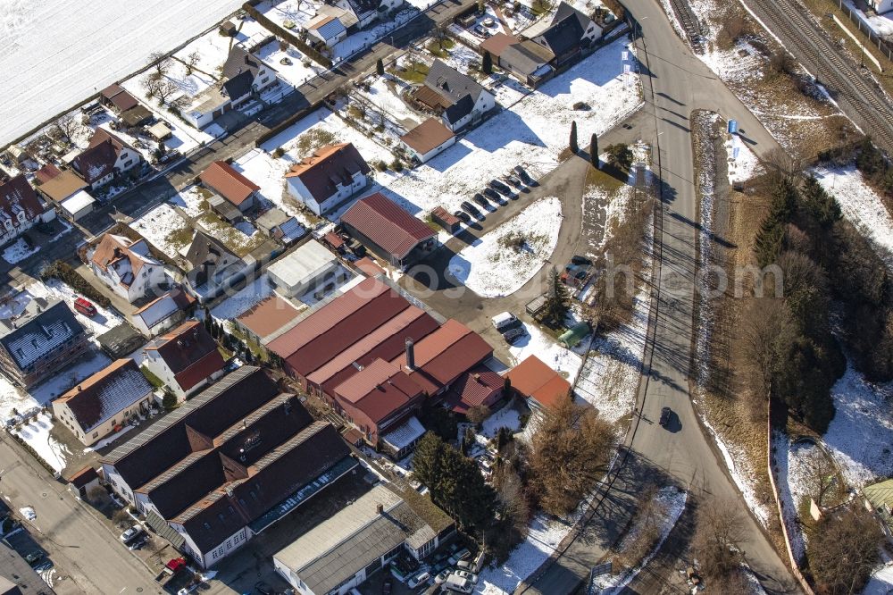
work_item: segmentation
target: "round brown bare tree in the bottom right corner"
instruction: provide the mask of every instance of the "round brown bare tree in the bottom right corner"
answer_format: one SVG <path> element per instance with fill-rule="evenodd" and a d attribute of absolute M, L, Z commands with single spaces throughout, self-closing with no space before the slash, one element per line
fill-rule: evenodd
<path fill-rule="evenodd" d="M 878 521 L 854 505 L 840 515 L 826 515 L 809 536 L 809 568 L 818 591 L 849 595 L 862 591 L 880 561 L 884 541 Z"/>

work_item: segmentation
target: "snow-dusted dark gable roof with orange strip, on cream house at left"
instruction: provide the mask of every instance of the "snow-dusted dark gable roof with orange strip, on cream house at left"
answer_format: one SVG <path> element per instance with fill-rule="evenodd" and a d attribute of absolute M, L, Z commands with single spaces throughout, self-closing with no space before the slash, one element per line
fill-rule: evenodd
<path fill-rule="evenodd" d="M 87 433 L 150 392 L 152 385 L 139 371 L 137 363 L 119 359 L 80 382 L 56 402 L 67 405 L 81 430 Z"/>

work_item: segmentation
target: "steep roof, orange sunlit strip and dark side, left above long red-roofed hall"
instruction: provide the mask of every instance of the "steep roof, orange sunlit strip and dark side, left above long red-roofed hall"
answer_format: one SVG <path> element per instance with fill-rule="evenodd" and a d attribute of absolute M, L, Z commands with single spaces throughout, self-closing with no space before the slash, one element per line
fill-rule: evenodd
<path fill-rule="evenodd" d="M 291 166 L 286 178 L 297 177 L 317 202 L 322 202 L 337 191 L 337 185 L 346 185 L 355 173 L 363 175 L 371 168 L 352 143 L 320 147 L 310 157 Z"/>

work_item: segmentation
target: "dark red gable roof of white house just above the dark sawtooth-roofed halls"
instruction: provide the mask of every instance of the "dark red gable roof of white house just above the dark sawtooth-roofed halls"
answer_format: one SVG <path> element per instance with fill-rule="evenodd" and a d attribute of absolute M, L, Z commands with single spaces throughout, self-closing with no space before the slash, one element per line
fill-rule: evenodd
<path fill-rule="evenodd" d="M 217 343 L 197 320 L 182 323 L 154 339 L 146 346 L 148 350 L 158 352 L 183 390 L 189 390 L 211 374 L 220 372 L 224 365 Z"/>

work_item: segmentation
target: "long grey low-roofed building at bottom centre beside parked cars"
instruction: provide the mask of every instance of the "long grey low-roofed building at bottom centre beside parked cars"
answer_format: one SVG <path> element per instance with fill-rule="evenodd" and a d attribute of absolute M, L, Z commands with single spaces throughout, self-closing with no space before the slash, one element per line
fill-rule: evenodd
<path fill-rule="evenodd" d="M 423 560 L 454 532 L 438 507 L 379 484 L 273 554 L 273 567 L 301 595 L 346 595 L 401 552 Z"/>

